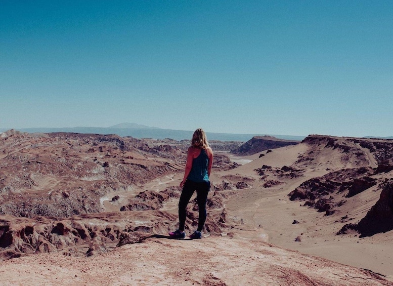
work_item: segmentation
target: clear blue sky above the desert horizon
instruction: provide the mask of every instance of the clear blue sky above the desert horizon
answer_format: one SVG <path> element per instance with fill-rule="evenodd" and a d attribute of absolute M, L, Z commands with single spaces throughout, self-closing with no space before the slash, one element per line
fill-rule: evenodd
<path fill-rule="evenodd" d="M 393 1 L 0 1 L 0 128 L 393 136 Z"/>

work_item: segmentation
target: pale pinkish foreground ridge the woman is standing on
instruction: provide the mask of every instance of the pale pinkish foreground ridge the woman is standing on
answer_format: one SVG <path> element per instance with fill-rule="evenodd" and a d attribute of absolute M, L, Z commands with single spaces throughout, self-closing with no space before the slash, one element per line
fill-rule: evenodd
<path fill-rule="evenodd" d="M 96 258 L 0 262 L 0 285 L 389 285 L 374 274 L 260 240 L 148 238 Z"/>

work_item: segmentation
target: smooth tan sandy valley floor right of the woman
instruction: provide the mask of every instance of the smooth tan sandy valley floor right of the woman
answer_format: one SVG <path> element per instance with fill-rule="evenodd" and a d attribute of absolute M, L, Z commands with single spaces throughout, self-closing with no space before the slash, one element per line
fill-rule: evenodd
<path fill-rule="evenodd" d="M 254 199 L 252 203 L 250 196 Z M 239 205 L 242 209 L 238 208 Z M 335 233 L 342 224 L 335 225 L 324 214 L 300 207 L 274 190 L 263 192 L 255 188 L 239 192 L 236 200 L 228 202 L 227 209 L 243 219 L 243 229 L 263 228 L 264 237 L 270 243 L 370 269 L 393 281 L 393 231 L 363 238 L 355 235 L 337 236 Z M 294 220 L 300 223 L 292 224 Z M 251 235 L 250 231 L 248 235 Z M 261 236 L 256 232 L 255 235 Z M 300 242 L 295 241 L 298 236 L 301 237 Z"/>

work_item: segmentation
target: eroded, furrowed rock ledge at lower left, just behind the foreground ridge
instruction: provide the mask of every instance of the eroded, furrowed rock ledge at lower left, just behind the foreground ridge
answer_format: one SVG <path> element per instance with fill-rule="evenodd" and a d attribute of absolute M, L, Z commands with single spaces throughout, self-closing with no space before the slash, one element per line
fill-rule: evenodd
<path fill-rule="evenodd" d="M 124 239 L 124 233 L 128 233 L 127 237 L 167 233 L 177 216 L 144 211 L 92 214 L 61 220 L 13 216 L 0 216 L 0 219 L 0 259 L 5 260 L 43 252 L 62 252 L 72 256 L 106 253 Z"/>

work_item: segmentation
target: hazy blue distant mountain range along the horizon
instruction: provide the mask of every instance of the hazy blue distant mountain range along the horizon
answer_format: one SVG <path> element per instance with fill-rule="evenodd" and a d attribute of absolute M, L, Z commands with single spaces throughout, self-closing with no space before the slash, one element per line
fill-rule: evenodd
<path fill-rule="evenodd" d="M 0 132 L 9 129 L 0 129 Z M 21 132 L 27 133 L 54 133 L 54 132 L 68 132 L 68 133 L 82 133 L 82 134 L 116 134 L 121 137 L 131 136 L 134 138 L 153 138 L 165 139 L 170 138 L 174 140 L 190 140 L 194 131 L 186 130 L 172 130 L 161 129 L 156 127 L 148 127 L 135 123 L 121 123 L 111 127 L 66 127 L 66 128 L 21 128 L 17 129 Z M 246 142 L 254 136 L 264 136 L 267 134 L 231 134 L 231 133 L 212 133 L 206 132 L 208 140 L 220 141 L 242 141 Z M 272 135 L 279 139 L 298 140 L 301 141 L 305 136 L 287 136 L 287 135 Z"/>

